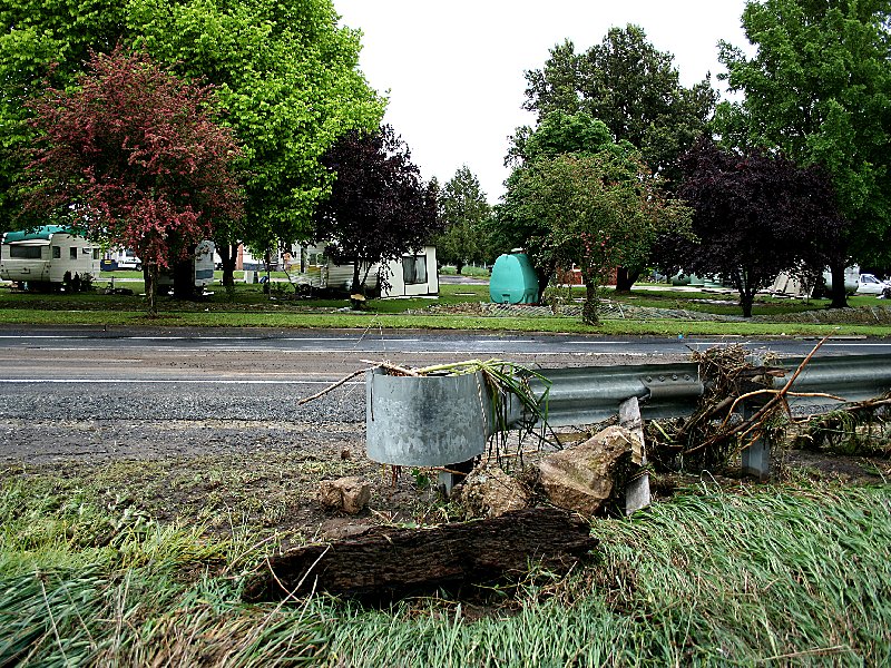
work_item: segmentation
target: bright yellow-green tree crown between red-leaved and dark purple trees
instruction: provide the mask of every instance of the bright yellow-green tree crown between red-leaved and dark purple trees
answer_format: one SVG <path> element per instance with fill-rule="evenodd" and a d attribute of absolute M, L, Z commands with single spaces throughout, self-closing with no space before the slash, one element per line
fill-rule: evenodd
<path fill-rule="evenodd" d="M 221 229 L 218 245 L 241 239 L 266 250 L 306 238 L 331 190 L 325 150 L 383 116 L 358 70 L 359 32 L 337 27 L 331 0 L 130 0 L 128 8 L 136 43 L 217 87 L 244 146 L 244 225 Z"/>

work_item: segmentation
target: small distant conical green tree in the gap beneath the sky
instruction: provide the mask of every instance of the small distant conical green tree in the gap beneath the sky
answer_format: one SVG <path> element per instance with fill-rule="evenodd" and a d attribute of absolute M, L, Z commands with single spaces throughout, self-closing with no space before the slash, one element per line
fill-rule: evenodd
<path fill-rule="evenodd" d="M 459 274 L 470 262 L 488 262 L 486 223 L 492 209 L 479 179 L 467 165 L 440 190 L 438 202 L 444 229 L 434 239 L 437 257 L 454 264 Z"/>

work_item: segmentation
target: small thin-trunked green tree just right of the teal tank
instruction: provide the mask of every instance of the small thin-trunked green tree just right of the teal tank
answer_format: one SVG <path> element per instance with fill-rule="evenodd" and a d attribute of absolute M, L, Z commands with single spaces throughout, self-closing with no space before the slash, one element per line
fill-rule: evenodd
<path fill-rule="evenodd" d="M 542 158 L 519 178 L 526 214 L 544 224 L 530 246 L 539 257 L 579 267 L 588 324 L 598 323 L 599 289 L 614 267 L 642 262 L 668 226 L 688 227 L 689 210 L 663 198 L 643 163 L 616 151 Z"/>

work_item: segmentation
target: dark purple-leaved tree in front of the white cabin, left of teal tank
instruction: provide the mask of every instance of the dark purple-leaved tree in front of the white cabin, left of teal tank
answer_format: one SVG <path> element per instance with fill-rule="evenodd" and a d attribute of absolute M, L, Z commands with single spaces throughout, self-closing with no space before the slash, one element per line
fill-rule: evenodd
<path fill-rule="evenodd" d="M 334 259 L 353 264 L 351 289 L 358 293 L 375 263 L 419 250 L 439 230 L 434 190 L 390 126 L 349 132 L 323 163 L 335 181 L 315 214 L 315 238 L 335 242 Z"/>

